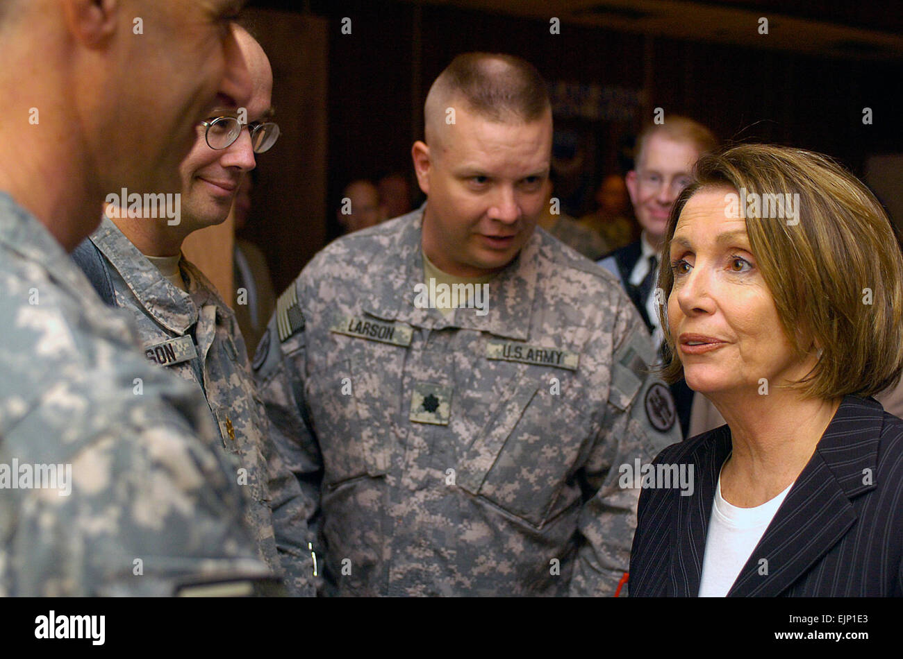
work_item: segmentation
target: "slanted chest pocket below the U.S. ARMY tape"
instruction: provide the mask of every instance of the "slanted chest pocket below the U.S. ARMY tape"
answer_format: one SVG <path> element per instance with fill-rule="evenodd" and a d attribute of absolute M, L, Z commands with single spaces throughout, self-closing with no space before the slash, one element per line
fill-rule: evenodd
<path fill-rule="evenodd" d="M 521 380 L 470 445 L 456 482 L 539 528 L 573 503 L 560 494 L 591 432 L 588 416 L 537 380 Z"/>

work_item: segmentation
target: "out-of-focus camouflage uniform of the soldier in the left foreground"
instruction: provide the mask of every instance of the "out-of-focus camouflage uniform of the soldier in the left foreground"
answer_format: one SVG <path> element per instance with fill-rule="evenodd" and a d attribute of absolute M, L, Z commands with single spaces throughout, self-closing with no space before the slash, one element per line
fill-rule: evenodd
<path fill-rule="evenodd" d="M 69 496 L 59 482 L 2 491 L 0 595 L 271 579 L 231 472 L 198 439 L 213 430 L 200 396 L 136 354 L 126 319 L 4 193 L 0 317 L 0 464 L 70 464 L 72 477 Z"/>

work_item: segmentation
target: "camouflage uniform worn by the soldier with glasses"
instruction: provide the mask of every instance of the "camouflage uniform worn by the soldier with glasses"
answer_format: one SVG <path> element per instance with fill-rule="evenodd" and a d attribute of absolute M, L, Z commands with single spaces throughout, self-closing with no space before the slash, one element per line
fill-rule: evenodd
<path fill-rule="evenodd" d="M 144 356 L 207 398 L 222 446 L 234 460 L 236 480 L 247 486 L 242 488 L 248 498 L 246 520 L 261 557 L 275 572 L 284 569 L 292 594 L 312 595 L 307 524 L 295 500 L 301 490 L 273 450 L 235 314 L 185 259 L 179 265 L 188 292 L 173 286 L 108 218 L 90 240 L 107 259 L 116 304 L 135 316 Z"/>

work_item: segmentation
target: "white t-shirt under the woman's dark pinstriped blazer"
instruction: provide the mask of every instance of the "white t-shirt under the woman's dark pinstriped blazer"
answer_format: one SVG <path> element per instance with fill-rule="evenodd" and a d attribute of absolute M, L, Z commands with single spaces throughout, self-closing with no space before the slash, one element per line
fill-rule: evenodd
<path fill-rule="evenodd" d="M 699 597 L 724 597 L 728 594 L 792 487 L 793 483 L 790 483 L 787 490 L 756 508 L 737 508 L 721 498 L 721 474 L 718 475 L 718 489 L 715 490 L 709 532 L 705 539 Z"/>

